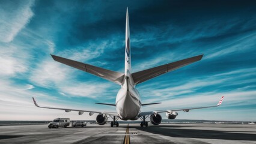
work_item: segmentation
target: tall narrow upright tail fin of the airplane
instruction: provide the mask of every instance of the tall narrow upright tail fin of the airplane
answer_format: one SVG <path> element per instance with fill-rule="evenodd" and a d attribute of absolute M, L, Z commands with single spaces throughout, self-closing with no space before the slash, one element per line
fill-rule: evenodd
<path fill-rule="evenodd" d="M 131 73 L 131 59 L 130 59 L 130 28 L 129 28 L 129 14 L 128 7 L 126 11 L 126 56 L 125 56 L 125 71 L 124 73 L 127 75 L 127 71 Z"/>

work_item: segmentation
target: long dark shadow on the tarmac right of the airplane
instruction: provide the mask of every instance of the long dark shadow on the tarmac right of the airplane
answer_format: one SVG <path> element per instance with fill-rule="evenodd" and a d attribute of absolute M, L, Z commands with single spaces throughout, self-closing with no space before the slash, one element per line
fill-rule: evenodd
<path fill-rule="evenodd" d="M 224 140 L 256 140 L 256 134 L 239 133 L 241 131 L 217 131 L 217 130 L 191 130 L 178 129 L 173 125 L 150 125 L 148 127 L 134 127 L 137 130 L 148 133 L 161 134 L 171 137 L 187 137 L 199 139 L 224 139 Z M 232 132 L 232 133 L 231 133 Z M 244 132 L 244 131 L 243 131 Z M 248 131 L 246 131 L 248 132 Z M 254 131 L 249 131 L 254 132 Z"/>

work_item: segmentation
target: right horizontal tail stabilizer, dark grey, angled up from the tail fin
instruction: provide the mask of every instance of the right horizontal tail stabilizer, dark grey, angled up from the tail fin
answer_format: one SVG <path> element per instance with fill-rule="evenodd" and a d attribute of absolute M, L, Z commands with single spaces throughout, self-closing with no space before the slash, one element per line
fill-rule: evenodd
<path fill-rule="evenodd" d="M 176 70 L 193 62 L 200 61 L 203 55 L 194 56 L 192 58 L 183 59 L 181 61 L 172 62 L 165 65 L 160 65 L 158 67 L 150 68 L 147 70 L 138 71 L 132 73 L 133 81 L 135 85 L 145 82 L 146 80 L 152 79 L 154 77 L 160 76 L 162 74 L 168 73 L 170 71 Z"/>

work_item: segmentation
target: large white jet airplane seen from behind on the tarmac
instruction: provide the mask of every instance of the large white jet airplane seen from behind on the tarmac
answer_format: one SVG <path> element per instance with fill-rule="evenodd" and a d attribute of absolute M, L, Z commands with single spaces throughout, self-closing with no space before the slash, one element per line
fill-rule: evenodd
<path fill-rule="evenodd" d="M 111 127 L 118 127 L 119 123 L 118 119 L 127 121 L 127 120 L 137 120 L 141 119 L 141 127 L 148 126 L 148 122 L 145 121 L 146 118 L 150 118 L 150 122 L 153 125 L 159 125 L 162 122 L 162 116 L 159 113 L 165 113 L 168 119 L 175 119 L 178 115 L 177 111 L 189 112 L 189 110 L 194 109 L 204 109 L 209 107 L 218 107 L 222 104 L 224 96 L 222 96 L 219 103 L 215 106 L 206 106 L 206 107 L 192 107 L 192 108 L 184 108 L 184 109 L 167 109 L 167 110 L 152 110 L 148 112 L 141 112 L 142 106 L 147 106 L 151 104 L 160 104 L 160 103 L 147 103 L 142 104 L 140 100 L 140 95 L 138 90 L 135 88 L 139 83 L 145 82 L 147 80 L 153 79 L 154 77 L 160 76 L 165 73 L 169 73 L 170 71 L 176 70 L 180 67 L 184 67 L 185 65 L 192 64 L 194 62 L 200 61 L 203 58 L 203 55 L 194 56 L 191 58 L 183 59 L 176 62 L 171 62 L 168 64 L 160 65 L 158 67 L 149 68 L 147 70 L 138 71 L 136 73 L 132 73 L 132 65 L 131 65 L 131 49 L 130 49 L 130 29 L 129 29 L 129 14 L 128 8 L 126 11 L 126 44 L 125 44 L 125 61 L 124 73 L 120 73 L 117 71 L 107 70 L 105 68 L 96 67 L 90 64 L 84 64 L 82 62 L 73 61 L 71 59 L 62 58 L 60 56 L 52 55 L 52 58 L 61 62 L 62 64 L 69 65 L 70 67 L 77 68 L 79 70 L 85 71 L 87 73 L 93 74 L 95 76 L 101 77 L 102 79 L 109 80 L 110 82 L 114 82 L 121 86 L 120 90 L 117 93 L 115 104 L 108 103 L 96 103 L 96 104 L 105 104 L 108 106 L 115 106 L 116 112 L 100 112 L 100 111 L 91 111 L 91 110 L 78 110 L 78 109 L 66 109 L 66 108 L 56 108 L 56 107 L 41 107 L 38 106 L 35 98 L 34 101 L 35 106 L 45 109 L 57 109 L 57 110 L 65 110 L 65 112 L 76 111 L 79 112 L 79 115 L 82 115 L 84 112 L 88 112 L 89 115 L 93 115 L 97 113 L 96 122 L 99 125 L 104 125 L 108 121 L 108 116 L 113 119 L 111 121 Z"/>

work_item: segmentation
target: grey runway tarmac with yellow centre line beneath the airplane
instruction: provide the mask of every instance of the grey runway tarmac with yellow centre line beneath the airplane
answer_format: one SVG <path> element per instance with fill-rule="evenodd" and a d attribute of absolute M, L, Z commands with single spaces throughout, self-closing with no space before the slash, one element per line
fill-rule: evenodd
<path fill-rule="evenodd" d="M 256 124 L 1 126 L 0 143 L 256 143 Z"/>

